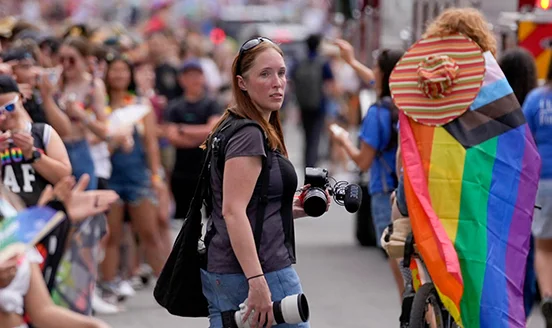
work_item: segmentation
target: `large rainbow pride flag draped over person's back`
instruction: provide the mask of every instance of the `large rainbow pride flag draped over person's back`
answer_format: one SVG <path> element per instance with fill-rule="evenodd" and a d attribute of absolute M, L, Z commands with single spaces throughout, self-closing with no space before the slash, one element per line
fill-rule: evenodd
<path fill-rule="evenodd" d="M 484 56 L 483 86 L 460 117 L 430 127 L 400 113 L 406 199 L 419 252 L 457 323 L 524 328 L 541 160 L 498 63 Z"/>

